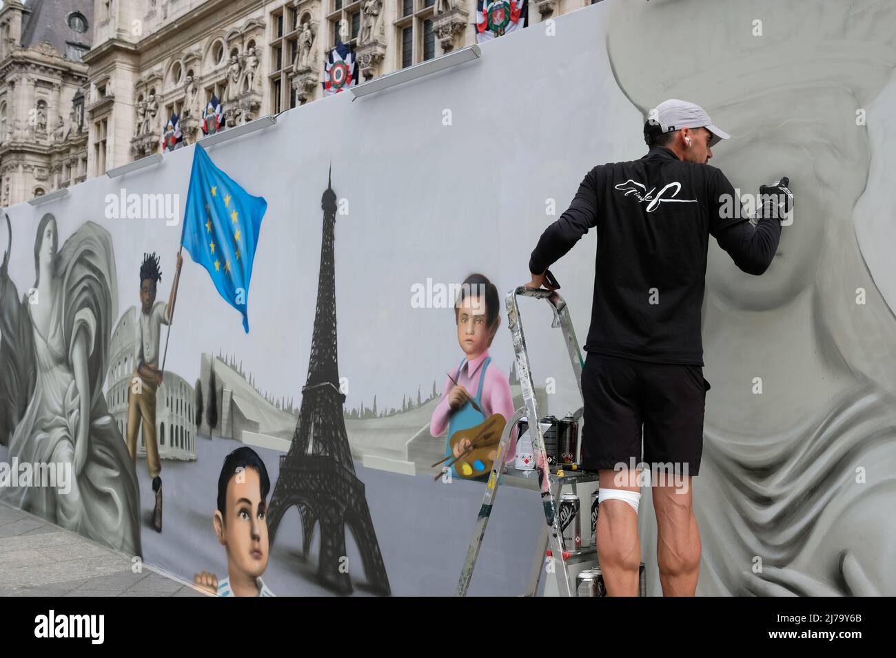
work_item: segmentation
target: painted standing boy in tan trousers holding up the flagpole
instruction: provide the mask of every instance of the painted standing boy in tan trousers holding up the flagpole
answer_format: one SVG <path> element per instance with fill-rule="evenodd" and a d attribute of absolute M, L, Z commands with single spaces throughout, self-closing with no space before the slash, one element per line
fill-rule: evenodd
<path fill-rule="evenodd" d="M 146 467 L 152 478 L 152 491 L 156 494 L 156 507 L 152 512 L 152 526 L 162 531 L 162 480 L 159 462 L 159 443 L 156 437 L 156 391 L 162 383 L 159 370 L 159 333 L 163 324 L 170 325 L 174 315 L 177 283 L 184 259 L 177 254 L 177 271 L 168 303 L 156 303 L 156 284 L 161 280 L 159 258 L 156 254 L 143 254 L 140 266 L 140 313 L 134 322 L 134 379 L 127 396 L 127 449 L 137 461 L 137 431 L 142 421 L 143 444 L 146 446 Z"/>

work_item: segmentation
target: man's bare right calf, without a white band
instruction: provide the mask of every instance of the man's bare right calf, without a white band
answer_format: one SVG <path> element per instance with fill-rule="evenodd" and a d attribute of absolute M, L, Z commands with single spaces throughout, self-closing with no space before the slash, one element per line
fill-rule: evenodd
<path fill-rule="evenodd" d="M 654 486 L 657 562 L 664 596 L 694 596 L 700 576 L 700 529 L 694 517 L 694 478 L 684 486 Z M 601 510 L 603 511 L 603 510 Z"/>

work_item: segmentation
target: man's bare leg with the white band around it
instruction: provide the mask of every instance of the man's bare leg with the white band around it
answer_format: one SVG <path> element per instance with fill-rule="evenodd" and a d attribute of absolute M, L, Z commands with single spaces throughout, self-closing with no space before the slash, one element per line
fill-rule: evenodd
<path fill-rule="evenodd" d="M 637 472 L 599 470 L 601 489 L 640 491 Z M 617 480 L 617 478 L 619 478 Z M 620 485 L 627 483 L 627 485 Z M 604 500 L 598 510 L 598 561 L 608 596 L 637 596 L 641 543 L 638 515 L 625 500 Z"/>

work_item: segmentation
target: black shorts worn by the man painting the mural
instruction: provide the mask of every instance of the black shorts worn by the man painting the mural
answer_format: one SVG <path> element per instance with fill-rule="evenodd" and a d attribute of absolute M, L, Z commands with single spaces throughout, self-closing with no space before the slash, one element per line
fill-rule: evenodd
<path fill-rule="evenodd" d="M 682 474 L 686 464 L 687 475 L 698 474 L 709 389 L 699 365 L 590 352 L 582 369 L 582 468 L 628 466 L 633 460 L 651 469 L 671 463 Z"/>

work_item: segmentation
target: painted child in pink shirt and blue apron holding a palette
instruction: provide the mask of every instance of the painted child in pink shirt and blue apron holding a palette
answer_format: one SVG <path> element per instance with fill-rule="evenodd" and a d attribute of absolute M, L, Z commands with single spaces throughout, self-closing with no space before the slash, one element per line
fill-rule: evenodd
<path fill-rule="evenodd" d="M 446 456 L 451 454 L 448 440 L 454 432 L 478 425 L 492 414 L 502 414 L 505 421 L 513 415 L 510 383 L 488 355 L 488 347 L 501 324 L 500 309 L 497 288 L 486 277 L 471 274 L 463 282 L 461 294 L 454 306 L 454 319 L 457 323 L 457 340 L 464 358 L 459 365 L 452 365 L 451 368 L 451 377 L 457 381 L 457 385 L 454 385 L 450 377 L 445 377 L 442 399 L 435 407 L 429 425 L 429 432 L 434 437 L 441 436 L 447 430 Z M 476 401 L 481 412 L 474 408 L 472 400 Z M 455 447 L 453 454 L 457 456 L 458 449 L 462 448 L 463 446 Z M 514 428 L 504 463 L 512 462 L 515 456 Z M 459 475 L 456 468 L 456 465 L 452 466 L 453 474 Z"/>

